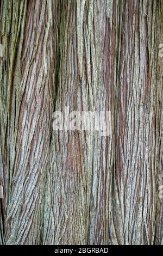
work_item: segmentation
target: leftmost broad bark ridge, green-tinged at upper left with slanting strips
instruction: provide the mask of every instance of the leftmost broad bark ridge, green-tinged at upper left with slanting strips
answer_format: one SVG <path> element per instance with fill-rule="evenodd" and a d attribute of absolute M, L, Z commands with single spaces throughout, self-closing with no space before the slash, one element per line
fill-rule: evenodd
<path fill-rule="evenodd" d="M 7 77 L 2 77 L 1 92 L 7 102 L 1 105 L 1 117 L 4 114 L 7 119 L 2 129 L 7 215 L 4 243 L 39 244 L 52 131 L 56 50 L 53 8 L 57 2 L 4 3 L 8 13 L 3 12 L 1 40 L 9 70 Z M 9 22 L 4 23 L 5 20 Z"/>

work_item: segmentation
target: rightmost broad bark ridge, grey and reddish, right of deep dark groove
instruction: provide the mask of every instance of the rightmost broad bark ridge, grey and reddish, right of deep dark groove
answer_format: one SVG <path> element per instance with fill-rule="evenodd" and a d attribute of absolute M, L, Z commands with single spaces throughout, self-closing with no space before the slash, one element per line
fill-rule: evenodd
<path fill-rule="evenodd" d="M 154 243 L 156 160 L 160 155 L 155 130 L 160 111 L 155 72 L 156 15 L 156 1 L 124 1 L 117 84 L 117 196 L 113 203 L 119 244 Z M 118 229 L 119 223 L 122 226 Z"/>

